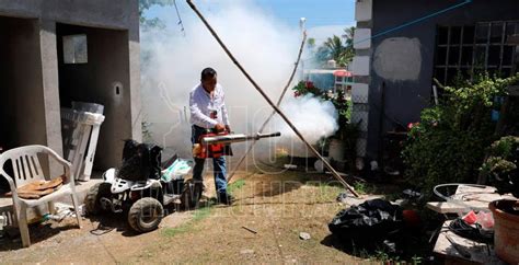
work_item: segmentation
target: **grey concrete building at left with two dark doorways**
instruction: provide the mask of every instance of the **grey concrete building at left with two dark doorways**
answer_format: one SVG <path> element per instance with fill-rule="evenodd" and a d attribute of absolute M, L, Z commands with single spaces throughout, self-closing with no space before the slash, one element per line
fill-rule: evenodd
<path fill-rule="evenodd" d="M 104 105 L 94 168 L 141 139 L 137 0 L 0 1 L 0 147 L 62 154 L 60 108 Z"/>

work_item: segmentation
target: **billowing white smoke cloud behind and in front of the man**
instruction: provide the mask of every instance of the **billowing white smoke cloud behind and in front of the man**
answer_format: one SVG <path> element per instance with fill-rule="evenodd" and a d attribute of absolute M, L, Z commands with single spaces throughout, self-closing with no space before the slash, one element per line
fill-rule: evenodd
<path fill-rule="evenodd" d="M 209 12 L 203 8 L 204 1 L 198 7 L 242 66 L 277 102 L 297 57 L 301 42 L 299 28 L 284 25 L 250 1 L 219 1 L 219 4 L 222 7 Z M 181 7 L 181 10 L 187 11 L 187 7 Z M 205 67 L 212 67 L 218 72 L 234 131 L 254 134 L 272 108 L 194 13 L 182 14 L 185 36 L 175 26 L 176 15 L 173 12 L 159 16 L 169 22 L 166 30 L 141 34 L 141 89 L 143 119 L 150 123 L 148 129 L 153 140 L 188 157 L 188 93 L 199 83 L 199 74 Z M 296 82 L 297 79 L 293 84 Z M 308 96 L 295 99 L 288 92 L 281 108 L 310 142 L 331 136 L 338 127 L 337 113 L 330 102 Z M 302 146 L 279 117 L 273 120 L 268 130 L 280 130 L 282 138 L 263 145 L 293 141 L 296 147 Z M 243 153 L 244 147 L 235 145 L 235 153 Z"/>

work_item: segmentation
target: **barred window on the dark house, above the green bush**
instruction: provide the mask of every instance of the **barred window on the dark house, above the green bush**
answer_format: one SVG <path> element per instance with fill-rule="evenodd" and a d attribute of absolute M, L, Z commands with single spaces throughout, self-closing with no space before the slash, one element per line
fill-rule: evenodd
<path fill-rule="evenodd" d="M 519 22 L 482 22 L 464 26 L 438 26 L 434 77 L 452 84 L 474 72 L 510 77 L 518 71 L 519 48 L 509 38 L 519 34 Z"/>

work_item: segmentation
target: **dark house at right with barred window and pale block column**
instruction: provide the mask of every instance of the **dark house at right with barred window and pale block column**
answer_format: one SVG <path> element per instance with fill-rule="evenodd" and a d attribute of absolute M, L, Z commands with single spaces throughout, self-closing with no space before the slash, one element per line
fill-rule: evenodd
<path fill-rule="evenodd" d="M 353 117 L 357 153 L 377 159 L 387 131 L 418 122 L 432 102 L 434 79 L 452 83 L 486 70 L 518 71 L 516 0 L 357 0 Z M 355 122 L 355 120 L 354 120 Z"/>

